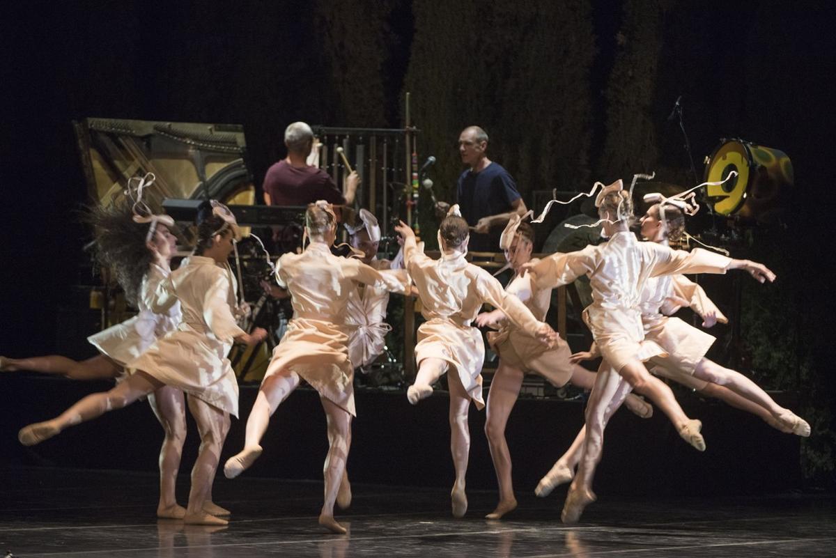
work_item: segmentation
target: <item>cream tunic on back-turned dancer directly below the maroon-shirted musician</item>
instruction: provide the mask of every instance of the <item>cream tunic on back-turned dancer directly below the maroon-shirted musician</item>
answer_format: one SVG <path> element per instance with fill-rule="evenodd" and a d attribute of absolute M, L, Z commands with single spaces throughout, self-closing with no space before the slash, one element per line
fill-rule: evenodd
<path fill-rule="evenodd" d="M 273 349 L 264 380 L 290 370 L 319 394 L 357 416 L 354 366 L 349 359 L 345 308 L 358 283 L 405 292 L 405 274 L 377 271 L 354 258 L 334 256 L 323 242 L 311 242 L 301 254 L 278 259 L 277 281 L 290 292 L 293 318 Z"/>

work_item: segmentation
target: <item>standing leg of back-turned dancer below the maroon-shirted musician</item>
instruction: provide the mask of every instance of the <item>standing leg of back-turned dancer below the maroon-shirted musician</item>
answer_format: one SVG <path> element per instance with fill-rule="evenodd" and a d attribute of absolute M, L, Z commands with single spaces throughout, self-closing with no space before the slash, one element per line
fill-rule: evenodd
<path fill-rule="evenodd" d="M 351 414 L 333 401 L 320 398 L 328 418 L 328 457 L 323 469 L 325 479 L 325 501 L 319 514 L 319 525 L 332 533 L 344 535 L 347 531 L 334 520 L 334 502 L 345 472 L 345 461 L 349 458 L 351 444 Z"/>

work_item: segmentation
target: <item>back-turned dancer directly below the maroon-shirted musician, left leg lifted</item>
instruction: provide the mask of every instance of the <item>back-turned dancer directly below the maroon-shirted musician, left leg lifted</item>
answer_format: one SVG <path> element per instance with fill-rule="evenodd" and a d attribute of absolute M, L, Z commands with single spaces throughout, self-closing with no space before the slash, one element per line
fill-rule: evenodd
<path fill-rule="evenodd" d="M 330 246 L 336 238 L 336 216 L 331 205 L 318 201 L 308 205 L 305 232 L 310 244 L 301 254 L 284 254 L 278 259 L 276 279 L 290 292 L 293 318 L 288 331 L 273 350 L 273 360 L 264 375 L 256 402 L 247 419 L 244 449 L 227 459 L 223 472 L 232 479 L 241 474 L 262 453 L 261 439 L 270 417 L 288 395 L 305 380 L 319 392 L 328 419 L 329 451 L 325 459 L 325 498 L 319 525 L 334 533 L 345 533 L 334 520 L 334 503 L 341 487 L 348 489 L 345 460 L 351 445 L 354 408 L 354 366 L 349 360 L 349 337 L 344 326 L 344 309 L 358 283 L 386 286 L 393 292 L 409 287 L 405 274 L 377 271 L 354 258 L 334 256 Z M 342 500 L 349 500 L 344 495 Z"/>

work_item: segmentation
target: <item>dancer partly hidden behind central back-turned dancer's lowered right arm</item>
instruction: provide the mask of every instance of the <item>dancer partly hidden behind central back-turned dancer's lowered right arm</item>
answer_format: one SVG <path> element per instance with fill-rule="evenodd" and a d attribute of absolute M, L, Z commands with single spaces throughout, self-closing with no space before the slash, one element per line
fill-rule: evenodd
<path fill-rule="evenodd" d="M 528 215 L 528 214 L 527 214 Z M 534 242 L 534 229 L 523 222 L 523 217 L 512 216 L 505 231 L 502 231 L 500 248 L 505 252 L 508 265 L 514 271 L 512 280 L 506 291 L 519 298 L 538 320 L 545 320 L 548 306 L 551 303 L 551 289 L 537 289 L 531 282 L 531 274 L 518 276 L 517 270 L 532 259 L 531 253 Z M 548 348 L 542 342 L 520 332 L 509 323 L 502 310 L 482 312 L 476 318 L 479 327 L 493 327 L 497 332 L 487 334 L 487 342 L 499 355 L 497 371 L 493 373 L 491 388 L 487 392 L 487 419 L 485 434 L 491 449 L 493 468 L 497 472 L 499 484 L 499 503 L 496 510 L 487 515 L 489 520 L 498 520 L 502 515 L 517 507 L 517 499 L 511 476 L 511 453 L 505 439 L 505 426 L 511 414 L 514 403 L 523 385 L 525 373 L 536 373 L 552 383 L 556 388 L 562 388 L 571 382 L 579 388 L 592 389 L 595 374 L 576 363 L 570 362 L 571 351 L 568 344 L 560 337 L 557 345 Z M 630 393 L 624 403 L 631 411 L 642 418 L 649 418 L 653 408 L 644 400 Z"/>

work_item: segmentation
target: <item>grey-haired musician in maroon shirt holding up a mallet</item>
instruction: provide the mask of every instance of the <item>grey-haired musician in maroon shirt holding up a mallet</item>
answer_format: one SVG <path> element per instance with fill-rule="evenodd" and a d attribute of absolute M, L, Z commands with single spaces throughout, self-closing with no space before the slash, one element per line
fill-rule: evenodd
<path fill-rule="evenodd" d="M 345 177 L 343 190 L 319 167 L 308 165 L 314 147 L 314 131 L 304 122 L 294 122 L 284 130 L 287 158 L 271 166 L 264 176 L 264 201 L 268 205 L 308 205 L 317 200 L 350 205 L 357 193 L 356 171 Z"/>

